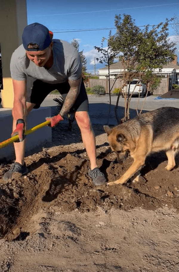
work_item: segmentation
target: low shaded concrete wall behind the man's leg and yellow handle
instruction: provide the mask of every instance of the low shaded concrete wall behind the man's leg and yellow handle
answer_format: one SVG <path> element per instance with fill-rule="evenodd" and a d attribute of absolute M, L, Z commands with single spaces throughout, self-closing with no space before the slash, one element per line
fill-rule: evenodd
<path fill-rule="evenodd" d="M 27 116 L 27 129 L 45 122 L 45 117 L 51 116 L 50 107 L 40 107 L 32 110 Z M 12 133 L 12 110 L 0 108 L 0 142 L 11 137 Z M 26 155 L 30 152 L 40 150 L 41 146 L 47 142 L 52 142 L 52 130 L 50 127 L 43 127 L 27 135 Z M 15 159 L 13 144 L 0 149 L 0 159 Z"/>

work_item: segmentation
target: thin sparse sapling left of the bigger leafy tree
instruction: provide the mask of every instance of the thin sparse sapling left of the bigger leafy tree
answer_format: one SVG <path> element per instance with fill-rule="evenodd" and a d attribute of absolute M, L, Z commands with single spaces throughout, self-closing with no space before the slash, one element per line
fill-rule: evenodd
<path fill-rule="evenodd" d="M 107 120 L 107 124 L 109 123 L 109 117 L 110 117 L 110 112 L 111 112 L 111 90 L 112 88 L 110 87 L 110 70 L 109 70 L 109 66 L 110 64 L 112 64 L 114 62 L 116 53 L 115 51 L 112 50 L 111 46 L 109 45 L 109 40 L 111 37 L 111 31 L 109 32 L 109 38 L 102 38 L 101 41 L 101 47 L 98 46 L 94 46 L 95 49 L 98 51 L 98 53 L 101 53 L 101 56 L 99 58 L 96 58 L 96 60 L 103 64 L 106 63 L 107 67 L 108 67 L 108 86 L 109 86 L 109 114 L 108 114 L 108 120 Z M 104 42 L 107 41 L 107 47 L 104 48 Z M 113 84 L 114 85 L 114 84 Z M 112 85 L 112 87 L 113 87 Z"/>

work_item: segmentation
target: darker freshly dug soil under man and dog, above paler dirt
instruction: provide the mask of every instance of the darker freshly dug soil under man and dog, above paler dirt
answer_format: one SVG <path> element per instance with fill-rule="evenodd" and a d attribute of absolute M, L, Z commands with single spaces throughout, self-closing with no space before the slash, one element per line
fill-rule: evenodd
<path fill-rule="evenodd" d="M 109 181 L 121 176 L 132 163 L 130 157 L 124 164 L 115 163 L 115 154 L 109 153 L 106 142 L 98 149 L 98 165 Z M 178 165 L 178 159 L 176 161 Z M 165 169 L 164 153 L 154 154 L 146 160 L 140 182 L 129 181 L 126 185 L 110 187 L 93 185 L 87 175 L 89 161 L 84 149 L 70 146 L 44 149 L 29 156 L 26 164 L 30 169 L 27 176 L 16 174 L 11 182 L 1 183 L 0 234 L 8 240 L 31 234 L 29 222 L 33 215 L 52 205 L 61 213 L 91 212 L 98 207 L 106 212 L 111 208 L 179 208 L 179 170 L 178 167 L 170 172 Z M 8 166 L 1 167 L 1 175 Z"/>

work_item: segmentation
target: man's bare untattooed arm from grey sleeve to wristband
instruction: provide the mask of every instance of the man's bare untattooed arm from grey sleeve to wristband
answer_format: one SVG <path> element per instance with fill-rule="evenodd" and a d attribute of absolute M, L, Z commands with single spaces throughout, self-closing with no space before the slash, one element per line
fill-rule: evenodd
<path fill-rule="evenodd" d="M 13 118 L 24 119 L 27 115 L 26 108 L 26 80 L 18 81 L 13 79 L 14 87 L 14 105 L 13 105 Z"/>

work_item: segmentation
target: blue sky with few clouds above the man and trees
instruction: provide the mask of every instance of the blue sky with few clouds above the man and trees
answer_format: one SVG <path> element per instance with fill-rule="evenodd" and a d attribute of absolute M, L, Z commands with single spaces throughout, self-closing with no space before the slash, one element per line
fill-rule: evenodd
<path fill-rule="evenodd" d="M 150 7 L 149 7 L 150 6 Z M 80 44 L 87 58 L 87 69 L 94 73 L 94 57 L 98 57 L 94 46 L 101 45 L 102 37 L 108 37 L 109 30 L 78 31 L 75 30 L 114 27 L 115 14 L 130 14 L 138 26 L 158 24 L 174 14 L 179 14 L 179 1 L 57 1 L 27 0 L 28 24 L 38 22 L 53 31 L 55 39 L 71 42 L 73 38 Z M 178 26 L 179 27 L 179 26 Z M 55 33 L 63 32 L 65 33 Z M 115 30 L 112 30 L 112 34 Z M 170 36 L 175 35 L 169 27 Z M 179 52 L 177 44 L 177 53 Z M 96 70 L 104 67 L 96 63 Z"/>

